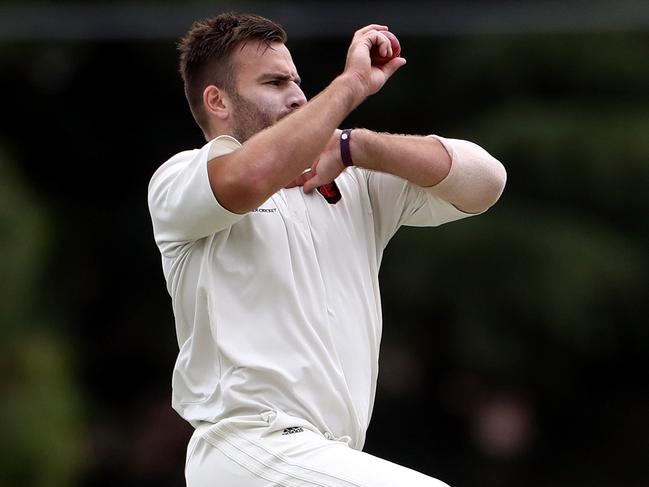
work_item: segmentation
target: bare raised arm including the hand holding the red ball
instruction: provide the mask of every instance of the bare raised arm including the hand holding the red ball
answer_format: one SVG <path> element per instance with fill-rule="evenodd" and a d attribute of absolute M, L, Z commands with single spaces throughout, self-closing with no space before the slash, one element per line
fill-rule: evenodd
<path fill-rule="evenodd" d="M 325 90 L 241 149 L 208 163 L 210 186 L 223 207 L 235 213 L 250 211 L 312 166 L 342 120 L 405 64 L 403 58 L 371 64 L 372 46 L 391 53 L 390 41 L 381 33 L 385 30 L 369 25 L 357 31 L 344 72 Z"/>

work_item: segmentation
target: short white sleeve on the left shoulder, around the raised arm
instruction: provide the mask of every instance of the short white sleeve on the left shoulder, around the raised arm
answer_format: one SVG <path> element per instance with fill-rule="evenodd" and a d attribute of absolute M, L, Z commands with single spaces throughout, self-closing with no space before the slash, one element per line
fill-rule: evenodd
<path fill-rule="evenodd" d="M 160 251 L 179 243 L 219 232 L 243 215 L 223 208 L 212 192 L 207 163 L 241 145 L 221 136 L 200 150 L 176 154 L 155 172 L 149 183 L 148 203 L 153 232 Z"/>

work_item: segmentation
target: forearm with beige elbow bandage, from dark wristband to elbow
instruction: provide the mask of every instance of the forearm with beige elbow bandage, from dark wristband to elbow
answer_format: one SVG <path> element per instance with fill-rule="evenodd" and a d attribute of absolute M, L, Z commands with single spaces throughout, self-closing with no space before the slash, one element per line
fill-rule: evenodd
<path fill-rule="evenodd" d="M 400 176 L 467 213 L 493 205 L 506 181 L 499 161 L 464 140 L 354 130 L 350 149 L 355 165 Z"/>

